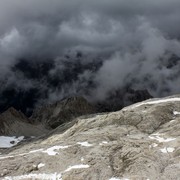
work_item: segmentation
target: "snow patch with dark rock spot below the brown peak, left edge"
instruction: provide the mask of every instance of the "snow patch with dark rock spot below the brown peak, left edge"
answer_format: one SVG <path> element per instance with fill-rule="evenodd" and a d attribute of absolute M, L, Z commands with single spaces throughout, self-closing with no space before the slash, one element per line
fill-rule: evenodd
<path fill-rule="evenodd" d="M 20 137 L 0 136 L 0 148 L 11 148 L 17 145 L 23 139 L 24 136 L 20 136 Z"/>

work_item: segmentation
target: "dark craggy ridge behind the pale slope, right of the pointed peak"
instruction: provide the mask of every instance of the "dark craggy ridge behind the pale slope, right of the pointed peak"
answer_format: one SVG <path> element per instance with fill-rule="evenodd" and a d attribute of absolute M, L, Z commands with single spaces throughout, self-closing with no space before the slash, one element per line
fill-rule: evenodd
<path fill-rule="evenodd" d="M 63 123 L 71 121 L 73 118 L 94 112 L 95 109 L 86 99 L 72 97 L 38 109 L 31 119 L 54 129 Z"/>

